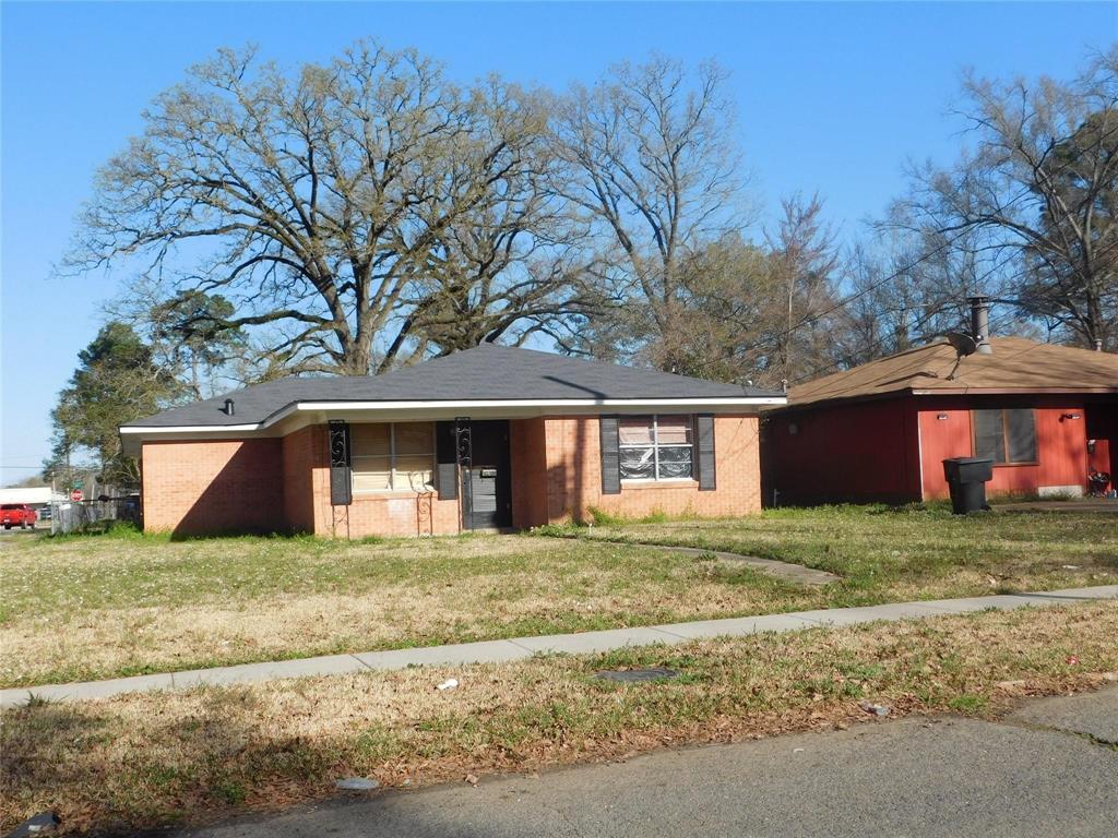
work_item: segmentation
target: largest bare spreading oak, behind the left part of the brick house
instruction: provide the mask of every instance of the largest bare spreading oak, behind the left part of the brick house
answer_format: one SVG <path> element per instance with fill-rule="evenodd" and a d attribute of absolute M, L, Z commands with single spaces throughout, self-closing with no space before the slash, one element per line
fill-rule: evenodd
<path fill-rule="evenodd" d="M 195 325 L 252 331 L 272 369 L 367 374 L 553 325 L 576 295 L 544 104 L 372 44 L 294 78 L 222 50 L 103 169 L 67 266 L 144 257 L 168 298 L 228 301 Z"/>

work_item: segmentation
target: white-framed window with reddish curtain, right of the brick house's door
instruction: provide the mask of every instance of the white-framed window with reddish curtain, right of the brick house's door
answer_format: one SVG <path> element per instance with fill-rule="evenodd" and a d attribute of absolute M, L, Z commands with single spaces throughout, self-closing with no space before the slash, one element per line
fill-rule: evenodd
<path fill-rule="evenodd" d="M 691 416 L 627 416 L 617 436 L 623 480 L 690 479 L 694 418 Z"/>

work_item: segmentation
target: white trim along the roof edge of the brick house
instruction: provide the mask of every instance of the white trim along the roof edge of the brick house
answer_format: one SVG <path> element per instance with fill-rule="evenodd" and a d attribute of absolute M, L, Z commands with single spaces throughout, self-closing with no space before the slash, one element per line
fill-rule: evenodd
<path fill-rule="evenodd" d="M 277 410 L 263 422 L 252 425 L 168 425 L 125 426 L 124 435 L 158 434 L 237 434 L 264 430 L 295 412 L 354 411 L 354 410 L 472 410 L 485 408 L 733 408 L 762 404 L 787 404 L 784 397 L 714 397 L 705 399 L 475 399 L 467 401 L 303 401 Z"/>

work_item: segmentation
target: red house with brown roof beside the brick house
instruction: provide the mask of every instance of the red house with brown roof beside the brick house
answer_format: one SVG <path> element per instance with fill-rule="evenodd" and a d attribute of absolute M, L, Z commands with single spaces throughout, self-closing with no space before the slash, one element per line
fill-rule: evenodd
<path fill-rule="evenodd" d="M 794 387 L 766 415 L 765 501 L 906 503 L 948 496 L 944 459 L 989 456 L 992 496 L 1083 494 L 1118 478 L 1118 355 L 947 341 Z"/>

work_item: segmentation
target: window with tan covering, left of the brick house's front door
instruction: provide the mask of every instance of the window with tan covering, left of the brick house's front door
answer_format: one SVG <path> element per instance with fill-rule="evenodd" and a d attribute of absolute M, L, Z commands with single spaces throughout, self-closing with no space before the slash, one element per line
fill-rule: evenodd
<path fill-rule="evenodd" d="M 435 483 L 432 422 L 353 425 L 354 492 L 430 492 Z"/>

